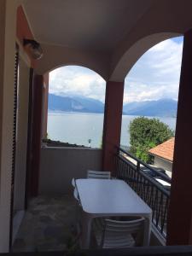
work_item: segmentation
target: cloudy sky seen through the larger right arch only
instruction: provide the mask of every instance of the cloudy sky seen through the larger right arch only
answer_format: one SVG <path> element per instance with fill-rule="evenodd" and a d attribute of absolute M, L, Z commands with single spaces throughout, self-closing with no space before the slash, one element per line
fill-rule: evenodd
<path fill-rule="evenodd" d="M 124 102 L 177 99 L 183 42 L 172 39 L 149 49 L 125 79 Z"/>

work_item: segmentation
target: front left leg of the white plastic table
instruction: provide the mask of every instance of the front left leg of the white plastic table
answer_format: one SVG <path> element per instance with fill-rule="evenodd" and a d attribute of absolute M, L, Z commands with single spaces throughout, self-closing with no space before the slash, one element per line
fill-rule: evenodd
<path fill-rule="evenodd" d="M 90 215 L 83 212 L 81 235 L 81 247 L 83 249 L 89 249 L 90 247 L 91 223 L 92 218 L 90 218 Z"/>

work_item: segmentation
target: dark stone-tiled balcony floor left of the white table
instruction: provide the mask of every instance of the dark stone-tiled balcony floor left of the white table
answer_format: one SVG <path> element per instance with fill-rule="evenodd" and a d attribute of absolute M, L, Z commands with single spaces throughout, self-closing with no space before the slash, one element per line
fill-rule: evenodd
<path fill-rule="evenodd" d="M 73 196 L 38 196 L 32 199 L 12 251 L 57 251 L 79 247 L 76 214 Z"/>

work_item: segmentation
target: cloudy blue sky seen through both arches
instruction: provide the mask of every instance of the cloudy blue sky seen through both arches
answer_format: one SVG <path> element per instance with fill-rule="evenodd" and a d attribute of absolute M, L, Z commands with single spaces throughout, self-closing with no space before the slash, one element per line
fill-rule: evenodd
<path fill-rule="evenodd" d="M 183 37 L 172 38 L 149 49 L 125 78 L 124 103 L 177 100 Z M 49 73 L 49 93 L 87 96 L 104 102 L 105 81 L 85 67 L 60 67 Z"/>

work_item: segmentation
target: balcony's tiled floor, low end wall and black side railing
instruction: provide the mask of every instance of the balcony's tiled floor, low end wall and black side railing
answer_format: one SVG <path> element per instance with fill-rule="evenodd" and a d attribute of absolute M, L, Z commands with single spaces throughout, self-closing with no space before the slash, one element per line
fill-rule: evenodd
<path fill-rule="evenodd" d="M 117 148 L 115 177 L 124 179 L 153 210 L 151 245 L 166 244 L 166 218 L 170 191 L 143 171 L 137 158 Z M 42 148 L 39 195 L 30 201 L 15 238 L 14 252 L 60 251 L 79 248 L 76 205 L 71 180 L 86 177 L 88 169 L 101 170 L 102 150 L 93 148 Z M 30 230 L 30 232 L 29 232 Z M 92 248 L 95 247 L 92 241 Z"/>

